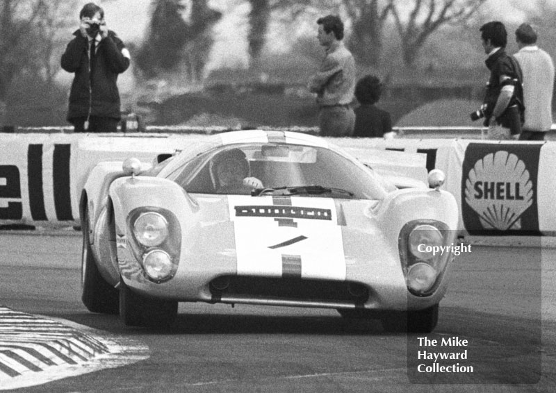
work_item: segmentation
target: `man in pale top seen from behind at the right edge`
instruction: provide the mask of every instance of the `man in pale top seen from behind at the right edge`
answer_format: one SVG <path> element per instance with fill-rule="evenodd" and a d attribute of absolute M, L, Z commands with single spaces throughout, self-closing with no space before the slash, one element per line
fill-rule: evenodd
<path fill-rule="evenodd" d="M 537 47 L 537 32 L 529 24 L 516 30 L 519 47 L 514 57 L 523 71 L 523 99 L 525 124 L 520 140 L 544 140 L 552 126 L 552 95 L 554 63 L 550 55 Z"/>

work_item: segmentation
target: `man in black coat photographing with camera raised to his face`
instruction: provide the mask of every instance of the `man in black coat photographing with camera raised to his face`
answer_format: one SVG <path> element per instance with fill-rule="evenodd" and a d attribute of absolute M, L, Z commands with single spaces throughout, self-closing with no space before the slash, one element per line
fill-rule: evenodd
<path fill-rule="evenodd" d="M 120 121 L 117 76 L 129 67 L 129 51 L 108 30 L 97 4 L 85 4 L 79 19 L 79 30 L 61 60 L 62 68 L 75 74 L 67 120 L 76 133 L 113 133 Z"/>

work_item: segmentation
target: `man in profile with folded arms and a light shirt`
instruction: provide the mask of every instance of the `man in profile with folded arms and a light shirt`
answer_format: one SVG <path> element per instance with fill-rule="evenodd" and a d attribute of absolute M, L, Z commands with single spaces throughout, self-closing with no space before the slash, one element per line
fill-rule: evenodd
<path fill-rule="evenodd" d="M 343 22 L 335 15 L 317 20 L 318 42 L 325 47 L 319 71 L 309 81 L 320 107 L 320 135 L 348 137 L 353 133 L 355 114 L 351 107 L 355 89 L 355 60 L 343 44 Z"/>

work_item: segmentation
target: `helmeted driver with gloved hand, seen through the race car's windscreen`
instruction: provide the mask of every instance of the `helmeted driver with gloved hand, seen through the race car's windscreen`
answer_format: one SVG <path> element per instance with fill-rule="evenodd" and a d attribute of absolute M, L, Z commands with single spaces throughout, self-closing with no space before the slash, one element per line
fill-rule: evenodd
<path fill-rule="evenodd" d="M 219 194 L 245 194 L 254 188 L 263 188 L 258 178 L 249 176 L 249 162 L 240 149 L 218 154 L 213 158 L 213 167 Z"/>

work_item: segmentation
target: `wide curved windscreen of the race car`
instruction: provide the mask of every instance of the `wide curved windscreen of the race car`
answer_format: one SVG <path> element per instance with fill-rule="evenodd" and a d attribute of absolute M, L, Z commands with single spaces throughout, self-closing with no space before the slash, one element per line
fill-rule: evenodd
<path fill-rule="evenodd" d="M 236 166 L 247 185 L 223 186 L 218 165 Z M 293 144 L 237 144 L 206 151 L 167 176 L 187 192 L 202 194 L 337 196 L 383 199 L 377 178 L 363 165 L 322 147 Z M 245 181 L 246 178 L 256 179 Z"/>

